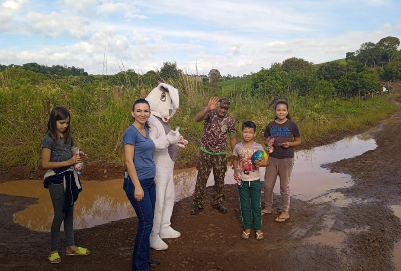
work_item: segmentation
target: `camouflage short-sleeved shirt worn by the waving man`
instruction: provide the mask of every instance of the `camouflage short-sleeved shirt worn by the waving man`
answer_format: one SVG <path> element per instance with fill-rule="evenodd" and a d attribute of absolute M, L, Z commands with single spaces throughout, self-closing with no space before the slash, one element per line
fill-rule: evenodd
<path fill-rule="evenodd" d="M 208 154 L 225 154 L 227 147 L 227 133 L 235 135 L 235 121 L 226 114 L 219 117 L 216 110 L 211 110 L 205 115 L 205 127 L 201 141 L 201 150 Z"/>

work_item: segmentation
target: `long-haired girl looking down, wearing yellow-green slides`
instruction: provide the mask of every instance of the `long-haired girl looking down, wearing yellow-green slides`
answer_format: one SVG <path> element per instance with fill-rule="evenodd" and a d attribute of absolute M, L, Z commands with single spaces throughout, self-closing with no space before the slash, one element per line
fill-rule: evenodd
<path fill-rule="evenodd" d="M 61 106 L 53 108 L 47 123 L 47 133 L 42 142 L 41 165 L 43 169 L 48 170 L 45 174 L 44 186 L 49 188 L 54 209 L 54 218 L 50 230 L 50 255 L 48 257 L 50 263 L 61 263 L 57 250 L 62 222 L 64 222 L 67 245 L 66 255 L 83 256 L 90 253 L 88 249 L 77 247 L 74 243 L 73 202 L 77 200 L 78 193 L 82 188 L 79 177 L 72 166 L 75 163 L 82 162 L 82 158 L 87 158 L 87 155 L 82 151 L 73 152 L 75 144 L 71 136 L 70 120 L 71 115 L 67 108 Z M 66 181 L 70 185 L 66 185 Z"/>

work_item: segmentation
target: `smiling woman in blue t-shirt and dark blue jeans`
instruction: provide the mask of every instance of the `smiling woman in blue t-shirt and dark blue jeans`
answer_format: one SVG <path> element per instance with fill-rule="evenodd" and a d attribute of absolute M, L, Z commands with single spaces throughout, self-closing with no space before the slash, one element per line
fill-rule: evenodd
<path fill-rule="evenodd" d="M 149 138 L 148 119 L 150 106 L 145 99 L 132 105 L 133 123 L 123 136 L 124 154 L 128 173 L 124 178 L 124 190 L 138 216 L 132 270 L 147 271 L 150 265 L 160 262 L 150 258 L 149 236 L 153 227 L 156 202 L 156 175 L 153 162 L 154 143 Z"/>

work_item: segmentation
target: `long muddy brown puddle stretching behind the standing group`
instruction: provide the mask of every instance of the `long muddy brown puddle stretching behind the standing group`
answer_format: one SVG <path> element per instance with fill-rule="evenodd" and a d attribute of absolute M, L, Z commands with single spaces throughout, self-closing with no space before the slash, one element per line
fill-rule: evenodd
<path fill-rule="evenodd" d="M 347 199 L 339 192 L 330 190 L 352 185 L 350 176 L 330 173 L 321 166 L 344 158 L 352 158 L 377 147 L 369 132 L 350 136 L 334 144 L 298 151 L 294 158 L 291 178 L 291 194 L 300 200 L 312 200 L 312 203 L 331 201 L 338 206 L 346 206 L 358 199 Z M 264 176 L 264 168 L 261 169 Z M 176 170 L 174 172 L 176 201 L 190 196 L 195 188 L 196 168 Z M 234 184 L 233 170 L 227 171 L 226 184 Z M 209 176 L 208 186 L 214 184 L 213 172 Z M 109 221 L 128 218 L 135 212 L 128 202 L 122 180 L 83 181 L 83 191 L 74 208 L 74 227 L 83 229 Z M 279 193 L 276 183 L 275 193 Z M 0 193 L 14 196 L 38 198 L 33 204 L 14 214 L 14 221 L 34 231 L 49 231 L 53 219 L 53 207 L 47 189 L 41 180 L 20 180 L 0 184 Z M 329 238 L 329 237 L 328 237 Z M 340 239 L 333 236 L 334 239 Z"/>

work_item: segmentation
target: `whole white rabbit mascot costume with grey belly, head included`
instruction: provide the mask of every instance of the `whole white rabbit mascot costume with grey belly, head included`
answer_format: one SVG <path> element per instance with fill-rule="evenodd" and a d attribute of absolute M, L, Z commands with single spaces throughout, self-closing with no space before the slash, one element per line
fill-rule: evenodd
<path fill-rule="evenodd" d="M 179 107 L 178 90 L 171 85 L 160 83 L 146 97 L 150 104 L 149 136 L 153 140 L 154 163 L 156 165 L 156 206 L 150 247 L 156 250 L 168 249 L 162 238 L 177 238 L 181 233 L 170 227 L 174 206 L 174 163 L 179 149 L 188 141 L 178 131 L 171 129 L 168 120 Z"/>

